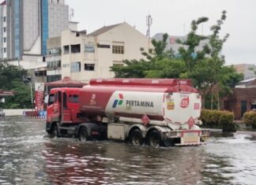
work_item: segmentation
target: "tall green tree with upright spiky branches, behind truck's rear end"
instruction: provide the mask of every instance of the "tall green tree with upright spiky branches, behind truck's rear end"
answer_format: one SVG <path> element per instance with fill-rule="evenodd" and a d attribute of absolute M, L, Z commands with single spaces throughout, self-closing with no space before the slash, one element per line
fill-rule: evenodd
<path fill-rule="evenodd" d="M 216 99 L 216 108 L 220 109 L 220 91 L 231 93 L 231 83 L 237 83 L 241 80 L 241 76 L 235 72 L 232 67 L 224 66 L 224 56 L 221 55 L 223 44 L 228 39 L 228 34 L 224 38 L 220 38 L 221 25 L 226 19 L 226 11 L 222 12 L 220 20 L 216 21 L 211 27 L 212 34 L 208 37 L 197 35 L 196 31 L 198 24 L 208 20 L 206 17 L 201 17 L 197 21 L 193 20 L 191 23 L 191 31 L 183 45 L 187 47 L 179 48 L 179 52 L 186 62 L 188 68 L 187 72 L 182 76 L 190 78 L 194 81 L 196 87 L 201 90 L 203 96 L 203 106 L 205 100 L 210 98 L 210 108 L 213 109 L 213 100 Z M 199 45 L 201 40 L 208 39 L 209 43 L 203 46 L 202 50 L 195 51 L 195 47 Z M 195 53 L 195 55 L 193 55 Z M 216 96 L 214 98 L 214 96 Z"/>

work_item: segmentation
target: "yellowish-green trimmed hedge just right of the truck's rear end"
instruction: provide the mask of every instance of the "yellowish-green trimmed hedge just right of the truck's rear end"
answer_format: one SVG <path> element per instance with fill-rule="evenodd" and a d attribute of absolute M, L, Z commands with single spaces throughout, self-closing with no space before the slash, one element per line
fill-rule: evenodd
<path fill-rule="evenodd" d="M 234 131 L 234 113 L 203 109 L 201 111 L 202 126 L 205 128 L 220 128 L 224 131 Z"/>

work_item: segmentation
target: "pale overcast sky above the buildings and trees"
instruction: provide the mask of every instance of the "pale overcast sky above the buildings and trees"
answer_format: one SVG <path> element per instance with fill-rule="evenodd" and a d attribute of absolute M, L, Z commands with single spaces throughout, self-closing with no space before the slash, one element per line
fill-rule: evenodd
<path fill-rule="evenodd" d="M 190 22 L 209 17 L 198 33 L 209 34 L 209 27 L 227 10 L 221 34 L 230 34 L 224 43 L 226 64 L 256 65 L 256 1 L 255 0 L 66 0 L 74 9 L 73 21 L 79 30 L 92 32 L 104 25 L 126 21 L 146 34 L 146 16 L 152 16 L 151 36 L 159 32 L 186 35 Z"/>

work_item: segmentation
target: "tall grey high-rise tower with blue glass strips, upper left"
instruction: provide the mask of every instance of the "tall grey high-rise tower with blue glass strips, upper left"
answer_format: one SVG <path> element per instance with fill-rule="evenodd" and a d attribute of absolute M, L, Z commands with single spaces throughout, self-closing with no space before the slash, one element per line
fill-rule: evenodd
<path fill-rule="evenodd" d="M 5 0 L 0 16 L 0 58 L 43 61 L 47 39 L 69 28 L 64 0 Z"/>

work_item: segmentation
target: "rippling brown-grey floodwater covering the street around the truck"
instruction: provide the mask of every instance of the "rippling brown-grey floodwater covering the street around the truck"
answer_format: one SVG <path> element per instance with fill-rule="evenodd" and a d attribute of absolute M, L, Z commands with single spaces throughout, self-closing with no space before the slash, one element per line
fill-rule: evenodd
<path fill-rule="evenodd" d="M 204 146 L 150 148 L 50 139 L 43 120 L 1 118 L 0 184 L 255 184 L 251 135 L 215 135 Z"/>

